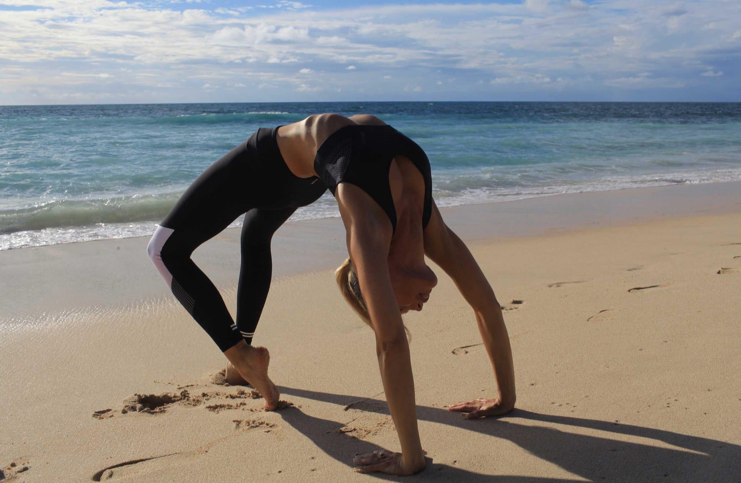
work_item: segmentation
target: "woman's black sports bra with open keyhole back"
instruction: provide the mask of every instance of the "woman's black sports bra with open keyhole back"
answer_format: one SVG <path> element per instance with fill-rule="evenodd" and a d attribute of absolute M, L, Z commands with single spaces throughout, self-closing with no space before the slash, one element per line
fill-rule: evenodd
<path fill-rule="evenodd" d="M 316 150 L 314 171 L 332 194 L 342 182 L 354 184 L 368 193 L 386 212 L 395 232 L 396 208 L 388 184 L 388 170 L 396 155 L 410 159 L 425 179 L 422 208 L 424 229 L 432 214 L 430 160 L 419 144 L 388 124 L 348 124 L 340 127 Z"/>

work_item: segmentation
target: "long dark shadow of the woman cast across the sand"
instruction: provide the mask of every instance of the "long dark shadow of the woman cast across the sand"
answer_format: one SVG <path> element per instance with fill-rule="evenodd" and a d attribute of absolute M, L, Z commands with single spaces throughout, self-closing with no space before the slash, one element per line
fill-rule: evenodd
<path fill-rule="evenodd" d="M 360 398 L 341 394 L 280 387 L 284 394 L 299 396 L 332 404 L 347 405 L 362 402 L 363 410 L 388 414 L 385 401 Z M 451 414 L 448 410 L 436 407 L 417 406 L 417 417 L 423 421 L 446 424 L 451 427 L 475 431 L 492 436 L 491 457 L 496 458 L 496 440 L 505 439 L 517 444 L 528 453 L 594 482 L 734 482 L 741 480 L 741 446 L 687 436 L 671 431 L 649 427 L 618 424 L 615 422 L 582 419 L 570 416 L 550 416 L 516 409 L 499 419 L 486 418 L 467 421 Z M 295 427 L 319 449 L 338 462 L 348 464 L 356 453 L 371 453 L 379 446 L 353 438 L 339 432 L 344 426 L 341 422 L 309 416 L 297 408 L 281 411 L 280 415 Z M 625 442 L 600 436 L 586 436 L 569 433 L 552 427 L 519 424 L 516 419 L 529 419 L 531 422 L 562 424 L 584 427 L 605 433 L 651 439 L 653 442 Z M 657 444 L 658 442 L 658 444 Z M 671 447 L 667 447 L 671 445 Z M 465 444 L 461 452 L 465 452 Z M 503 464 L 497 466 L 502 467 Z M 511 464 L 516 471 L 516 464 Z M 416 476 L 400 478 L 382 473 L 372 473 L 381 479 L 392 481 L 453 482 L 579 482 L 579 479 L 548 479 L 530 476 L 485 475 L 462 470 L 448 464 L 431 462 Z"/>

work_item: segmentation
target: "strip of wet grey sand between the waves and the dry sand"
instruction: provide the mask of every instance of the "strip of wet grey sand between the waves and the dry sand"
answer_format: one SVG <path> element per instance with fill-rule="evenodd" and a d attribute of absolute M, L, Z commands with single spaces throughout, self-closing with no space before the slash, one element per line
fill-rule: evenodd
<path fill-rule="evenodd" d="M 682 216 L 741 212 L 741 181 L 563 193 L 514 201 L 441 207 L 446 224 L 468 243 L 628 226 Z M 193 260 L 220 290 L 239 276 L 239 236 L 232 227 L 206 241 Z M 0 320 L 171 296 L 145 256 L 150 236 L 70 242 L 0 251 Z M 347 257 L 342 219 L 291 221 L 273 236 L 273 280 L 328 270 Z M 28 287 L 17 280 L 33 280 Z M 76 293 L 59 280 L 72 279 Z M 10 282 L 9 282 L 10 281 Z M 100 290 L 119 287 L 119 290 Z M 35 299 L 28 310 L 29 297 Z M 0 332 L 3 330 L 0 327 Z"/>

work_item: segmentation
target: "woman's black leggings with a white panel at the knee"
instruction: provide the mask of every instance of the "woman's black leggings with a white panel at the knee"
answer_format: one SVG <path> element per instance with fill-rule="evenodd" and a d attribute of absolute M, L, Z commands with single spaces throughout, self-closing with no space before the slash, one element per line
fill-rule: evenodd
<path fill-rule="evenodd" d="M 147 245 L 147 254 L 176 299 L 222 352 L 243 339 L 252 342 L 270 288 L 273 233 L 297 207 L 315 201 L 326 189 L 316 178 L 290 172 L 278 150 L 276 130 L 258 130 L 208 167 Z M 234 323 L 219 290 L 190 255 L 242 213 L 247 214 Z"/>

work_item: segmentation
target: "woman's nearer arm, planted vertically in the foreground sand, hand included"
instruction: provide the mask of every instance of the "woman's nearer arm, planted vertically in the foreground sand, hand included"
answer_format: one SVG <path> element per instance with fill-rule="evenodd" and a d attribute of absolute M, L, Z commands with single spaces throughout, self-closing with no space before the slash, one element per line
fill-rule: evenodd
<path fill-rule="evenodd" d="M 347 230 L 350 259 L 376 333 L 376 356 L 386 402 L 402 447 L 401 454 L 365 455 L 356 459 L 356 464 L 364 465 L 358 469 L 364 472 L 411 475 L 424 469 L 425 456 L 417 429 L 409 344 L 388 273 L 391 222 L 359 187 L 342 183 L 336 195 Z"/>

